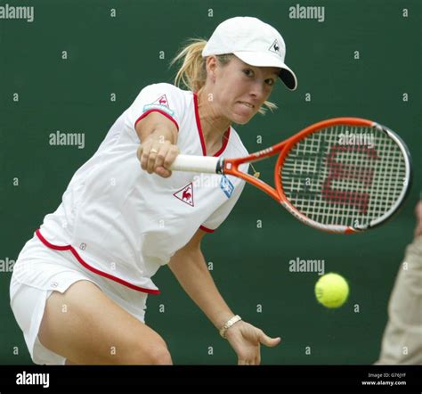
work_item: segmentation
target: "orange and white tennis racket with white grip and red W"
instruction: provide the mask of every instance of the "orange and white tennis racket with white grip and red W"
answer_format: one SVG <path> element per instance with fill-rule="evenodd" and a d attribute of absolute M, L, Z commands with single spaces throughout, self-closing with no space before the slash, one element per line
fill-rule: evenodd
<path fill-rule="evenodd" d="M 279 154 L 275 188 L 239 170 L 246 162 Z M 179 155 L 173 170 L 239 176 L 306 225 L 333 233 L 378 226 L 410 189 L 410 155 L 387 127 L 358 118 L 328 119 L 238 159 Z"/>

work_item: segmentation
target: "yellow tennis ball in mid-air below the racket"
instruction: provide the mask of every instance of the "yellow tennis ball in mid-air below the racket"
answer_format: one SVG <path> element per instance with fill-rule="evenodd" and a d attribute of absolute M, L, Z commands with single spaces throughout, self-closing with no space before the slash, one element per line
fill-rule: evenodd
<path fill-rule="evenodd" d="M 329 273 L 315 284 L 317 300 L 327 308 L 341 307 L 349 295 L 349 285 L 342 275 Z"/>

